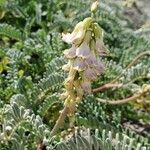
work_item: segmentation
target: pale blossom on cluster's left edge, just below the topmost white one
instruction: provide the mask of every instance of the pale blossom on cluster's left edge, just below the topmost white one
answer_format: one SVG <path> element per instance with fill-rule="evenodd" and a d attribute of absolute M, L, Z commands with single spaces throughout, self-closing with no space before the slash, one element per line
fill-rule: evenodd
<path fill-rule="evenodd" d="M 76 57 L 76 47 L 73 45 L 70 49 L 64 51 L 66 58 L 75 58 Z"/>

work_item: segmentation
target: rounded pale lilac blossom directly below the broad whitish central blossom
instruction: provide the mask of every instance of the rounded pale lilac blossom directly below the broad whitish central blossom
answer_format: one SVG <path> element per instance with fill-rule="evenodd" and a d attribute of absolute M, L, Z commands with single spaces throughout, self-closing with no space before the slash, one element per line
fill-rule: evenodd
<path fill-rule="evenodd" d="M 83 71 L 86 68 L 86 63 L 85 63 L 85 61 L 83 59 L 76 58 L 74 63 L 73 63 L 73 68 L 75 70 L 78 70 L 78 71 Z"/>

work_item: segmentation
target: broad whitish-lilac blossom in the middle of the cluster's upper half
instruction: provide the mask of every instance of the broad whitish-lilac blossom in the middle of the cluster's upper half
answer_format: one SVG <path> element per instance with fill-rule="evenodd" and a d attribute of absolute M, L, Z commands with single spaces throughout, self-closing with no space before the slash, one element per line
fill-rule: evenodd
<path fill-rule="evenodd" d="M 90 55 L 90 48 L 86 42 L 83 42 L 76 50 L 76 56 L 87 58 Z"/>

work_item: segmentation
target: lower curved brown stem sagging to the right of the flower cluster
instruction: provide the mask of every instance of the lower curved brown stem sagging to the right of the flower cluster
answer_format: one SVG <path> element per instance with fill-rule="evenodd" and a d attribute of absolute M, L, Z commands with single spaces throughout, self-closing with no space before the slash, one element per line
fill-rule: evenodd
<path fill-rule="evenodd" d="M 104 100 L 104 99 L 100 99 L 100 98 L 97 98 L 96 100 L 98 102 L 105 103 L 105 104 L 120 105 L 120 104 L 125 104 L 125 103 L 131 102 L 131 101 L 135 101 L 141 95 L 142 94 L 133 95 L 133 96 L 131 96 L 129 98 L 125 98 L 125 99 L 122 99 L 122 100 L 112 100 L 112 101 L 109 101 L 109 100 Z"/>

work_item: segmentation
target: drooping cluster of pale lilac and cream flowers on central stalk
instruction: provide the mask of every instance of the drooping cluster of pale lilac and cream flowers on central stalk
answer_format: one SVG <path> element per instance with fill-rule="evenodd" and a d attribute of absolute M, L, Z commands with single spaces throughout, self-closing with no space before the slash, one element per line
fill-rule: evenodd
<path fill-rule="evenodd" d="M 107 53 L 103 43 L 103 31 L 91 17 L 79 22 L 72 33 L 62 34 L 62 39 L 72 47 L 64 51 L 68 63 L 63 66 L 69 72 L 62 97 L 66 104 L 80 102 L 84 93 L 91 93 L 91 81 L 104 71 L 99 56 Z"/>

